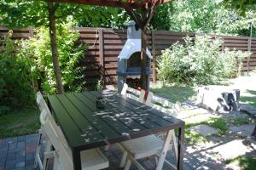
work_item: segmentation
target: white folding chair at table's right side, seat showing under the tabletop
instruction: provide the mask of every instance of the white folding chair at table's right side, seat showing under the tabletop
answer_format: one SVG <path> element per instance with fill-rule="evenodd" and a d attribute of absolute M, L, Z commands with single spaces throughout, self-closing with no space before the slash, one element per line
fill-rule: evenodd
<path fill-rule="evenodd" d="M 152 106 L 154 109 L 158 111 L 167 112 L 168 114 L 172 113 L 175 114 L 176 111 L 172 111 L 173 104 L 165 99 L 160 99 L 159 97 L 154 97 L 154 99 L 160 103 L 161 105 L 168 105 L 170 107 L 167 109 L 165 107 L 160 107 L 159 105 L 154 105 L 149 101 L 153 99 L 153 93 L 148 93 L 148 98 L 146 100 L 146 105 Z M 174 150 L 176 161 L 177 161 L 177 140 L 175 137 L 174 130 L 170 131 L 166 138 L 171 138 L 172 144 L 167 145 L 167 150 Z M 164 147 L 164 142 L 159 139 L 155 135 L 148 135 L 138 139 L 131 139 L 125 142 L 118 144 L 119 148 L 124 151 L 123 158 L 120 162 L 119 167 L 125 167 L 125 170 L 128 170 L 131 167 L 131 162 L 138 168 L 144 169 L 138 162 L 138 159 L 148 157 L 148 156 L 155 156 L 156 162 L 158 162 L 158 157 Z M 165 150 L 165 152 L 167 151 Z M 166 160 L 165 160 L 166 161 Z M 172 164 L 169 161 L 166 161 L 169 165 Z M 162 162 L 163 163 L 163 162 Z M 173 166 L 172 166 L 173 167 Z"/>

